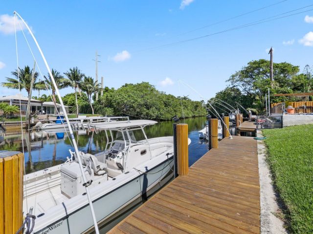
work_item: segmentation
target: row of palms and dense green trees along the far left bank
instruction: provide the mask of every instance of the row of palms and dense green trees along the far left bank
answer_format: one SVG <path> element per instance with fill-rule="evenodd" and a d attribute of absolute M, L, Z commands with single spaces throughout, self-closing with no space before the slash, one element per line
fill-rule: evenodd
<path fill-rule="evenodd" d="M 169 120 L 174 116 L 198 117 L 205 116 L 206 110 L 200 101 L 193 101 L 187 97 L 175 97 L 156 90 L 148 82 L 125 84 L 118 89 L 105 87 L 103 95 L 95 100 L 95 93 L 100 92 L 100 84 L 92 77 L 86 76 L 77 67 L 70 68 L 63 75 L 52 69 L 52 76 L 59 89 L 71 87 L 74 93 L 65 95 L 62 100 L 65 105 L 71 106 L 70 112 L 96 113 L 104 116 L 130 116 L 134 118 L 148 118 Z M 18 89 L 19 83 L 30 95 L 31 78 L 34 76 L 34 90 L 51 90 L 52 97 L 42 95 L 35 97 L 41 101 L 59 102 L 55 95 L 55 88 L 49 74 L 44 80 L 38 80 L 39 74 L 25 66 L 23 69 L 12 72 L 14 78 L 6 78 L 1 85 L 7 88 Z M 20 82 L 19 82 L 19 79 Z"/>

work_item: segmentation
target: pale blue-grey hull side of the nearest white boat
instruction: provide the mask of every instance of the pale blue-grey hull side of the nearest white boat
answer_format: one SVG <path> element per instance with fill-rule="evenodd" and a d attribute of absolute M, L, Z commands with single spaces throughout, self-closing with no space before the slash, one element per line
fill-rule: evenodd
<path fill-rule="evenodd" d="M 139 173 L 120 187 L 93 200 L 94 212 L 98 223 L 104 223 L 112 215 L 135 202 L 147 199 L 147 192 L 154 188 L 173 167 L 173 157 L 163 161 L 146 173 Z M 91 194 L 92 196 L 92 194 Z M 87 198 L 86 198 L 87 199 Z M 137 203 L 137 202 L 135 202 Z M 65 211 L 67 208 L 64 205 Z M 66 212 L 67 213 L 67 212 Z M 36 231 L 35 234 L 73 234 L 85 233 L 93 227 L 89 204 L 67 214 L 58 221 Z M 35 225 L 36 228 L 36 225 Z"/>

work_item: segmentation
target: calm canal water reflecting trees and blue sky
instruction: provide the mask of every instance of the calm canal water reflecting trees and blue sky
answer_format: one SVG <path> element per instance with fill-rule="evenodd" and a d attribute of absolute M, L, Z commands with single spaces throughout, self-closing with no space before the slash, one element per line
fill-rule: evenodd
<path fill-rule="evenodd" d="M 197 161 L 208 151 L 208 141 L 200 140 L 198 131 L 206 125 L 205 117 L 194 117 L 181 119 L 181 123 L 188 124 L 188 137 L 191 139 L 189 145 L 189 166 Z M 135 131 L 134 133 L 140 133 Z M 145 127 L 148 138 L 173 136 L 173 121 L 160 121 L 155 125 Z M 106 136 L 104 132 L 89 133 L 86 131 L 74 132 L 80 151 L 95 154 L 105 150 Z M 136 135 L 136 139 L 142 136 Z M 69 157 L 68 150 L 74 151 L 66 133 L 46 133 L 45 131 L 32 131 L 29 133 L 10 133 L 2 136 L 0 150 L 22 152 L 22 143 L 25 154 L 26 174 L 43 170 L 45 168 L 61 164 Z"/>

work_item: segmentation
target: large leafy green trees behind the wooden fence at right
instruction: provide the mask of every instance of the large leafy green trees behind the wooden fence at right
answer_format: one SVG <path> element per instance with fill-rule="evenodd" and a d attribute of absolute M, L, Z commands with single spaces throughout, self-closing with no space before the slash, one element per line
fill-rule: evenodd
<path fill-rule="evenodd" d="M 228 109 L 232 108 L 225 104 L 227 109 L 218 99 L 227 102 L 235 109 L 238 107 L 242 113 L 244 110 L 240 105 L 245 109 L 251 109 L 256 114 L 264 114 L 266 111 L 265 95 L 268 93 L 268 88 L 270 102 L 303 100 L 304 97 L 274 97 L 273 94 L 312 92 L 313 72 L 309 65 L 300 71 L 299 66 L 288 62 L 273 63 L 273 82 L 271 83 L 270 61 L 259 59 L 248 62 L 241 70 L 232 74 L 226 82 L 227 87 L 208 100 L 220 114 L 229 113 Z M 309 100 L 313 100 L 313 96 L 310 96 Z M 210 105 L 207 106 L 214 112 Z"/>

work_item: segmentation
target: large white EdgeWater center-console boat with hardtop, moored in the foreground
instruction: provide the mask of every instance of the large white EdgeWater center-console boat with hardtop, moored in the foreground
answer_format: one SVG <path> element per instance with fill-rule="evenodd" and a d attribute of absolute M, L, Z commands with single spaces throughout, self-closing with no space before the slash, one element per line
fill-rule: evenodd
<path fill-rule="evenodd" d="M 106 150 L 96 155 L 80 152 L 98 223 L 145 195 L 171 172 L 173 137 L 148 139 L 152 120 L 105 122 Z M 141 132 L 142 140 L 134 138 Z M 190 143 L 190 140 L 189 140 Z M 93 227 L 89 202 L 75 153 L 64 164 L 24 176 L 23 212 L 33 207 L 34 234 L 78 234 Z"/>

